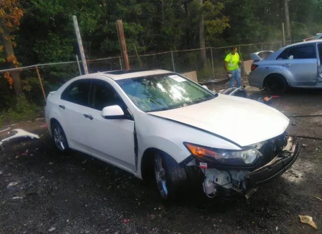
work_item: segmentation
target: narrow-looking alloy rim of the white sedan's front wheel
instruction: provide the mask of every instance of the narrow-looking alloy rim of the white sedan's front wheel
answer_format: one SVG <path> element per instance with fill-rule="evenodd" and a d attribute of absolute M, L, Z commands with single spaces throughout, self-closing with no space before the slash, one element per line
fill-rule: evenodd
<path fill-rule="evenodd" d="M 168 196 L 166 170 L 163 166 L 162 157 L 159 154 L 155 155 L 154 158 L 154 174 L 157 188 L 161 196 L 166 199 Z"/>

